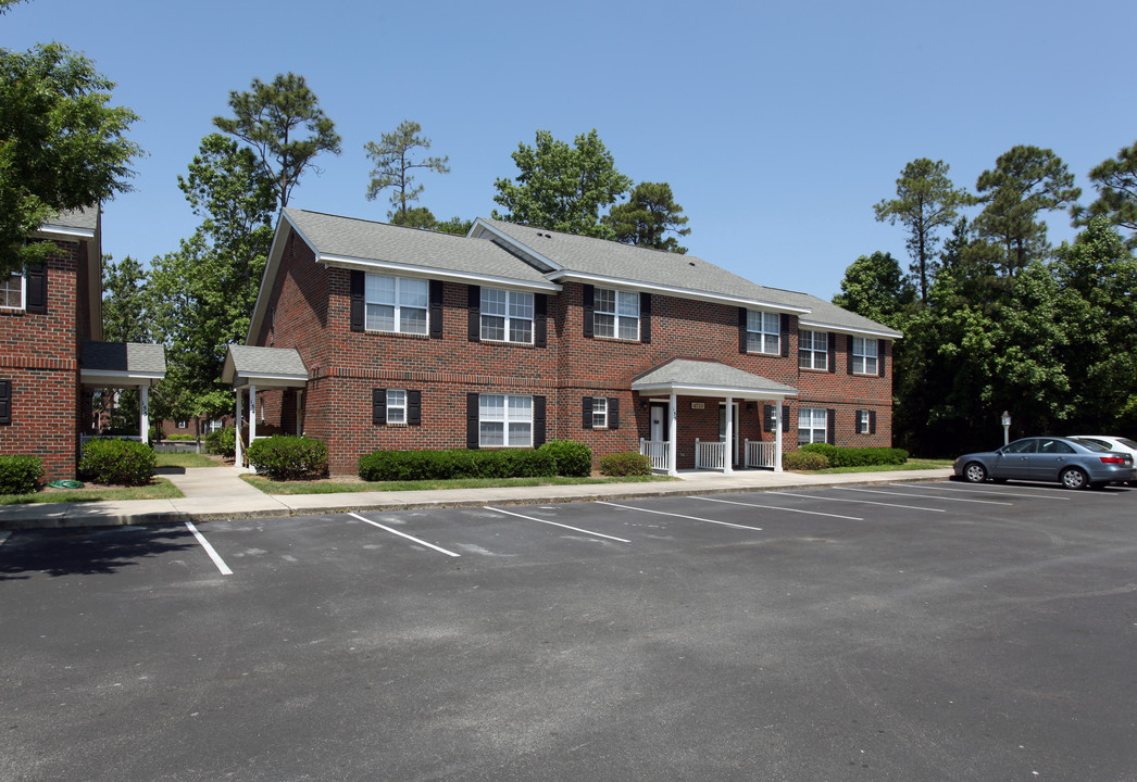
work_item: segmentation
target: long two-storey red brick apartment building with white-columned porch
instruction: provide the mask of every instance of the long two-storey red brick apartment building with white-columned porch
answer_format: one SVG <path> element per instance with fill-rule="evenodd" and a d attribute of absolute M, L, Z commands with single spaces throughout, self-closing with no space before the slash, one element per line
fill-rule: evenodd
<path fill-rule="evenodd" d="M 802 442 L 890 444 L 899 336 L 694 256 L 285 209 L 224 376 L 251 436 L 323 440 L 333 474 L 376 449 L 554 439 L 672 472 L 780 468 Z"/>

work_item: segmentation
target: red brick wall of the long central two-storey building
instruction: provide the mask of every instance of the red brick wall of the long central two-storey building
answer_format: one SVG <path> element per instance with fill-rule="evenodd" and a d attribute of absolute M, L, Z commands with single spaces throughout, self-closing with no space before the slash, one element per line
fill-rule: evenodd
<path fill-rule="evenodd" d="M 290 249 L 292 248 L 292 249 Z M 583 336 L 583 285 L 566 283 L 548 297 L 548 346 L 536 348 L 467 339 L 467 286 L 443 285 L 442 339 L 351 332 L 350 273 L 325 268 L 301 241 L 285 244 L 258 344 L 296 348 L 308 366 L 305 433 L 329 446 L 333 473 L 352 473 L 362 454 L 379 448 L 465 448 L 466 393 L 543 394 L 547 439 L 587 443 L 597 458 L 638 450 L 649 435 L 647 398 L 631 391 L 632 377 L 675 357 L 722 361 L 799 390 L 791 399 L 783 444 L 796 448 L 797 409 L 836 409 L 836 439 L 841 446 L 890 444 L 891 350 L 882 357 L 883 377 L 847 373 L 849 340 L 837 338 L 835 372 L 799 371 L 797 318 L 790 318 L 789 356 L 740 353 L 738 308 L 653 296 L 652 342 Z M 371 423 L 374 388 L 417 389 L 423 394 L 422 426 Z M 586 396 L 620 399 L 619 430 L 582 426 Z M 265 431 L 284 429 L 282 396 L 258 393 Z M 702 401 L 695 410 L 690 402 Z M 681 398 L 679 464 L 694 465 L 695 439 L 719 434 L 719 399 Z M 854 433 L 854 410 L 877 413 L 877 434 Z M 763 402 L 739 406 L 740 439 L 772 440 L 762 432 Z M 258 424 L 258 433 L 262 426 Z"/>

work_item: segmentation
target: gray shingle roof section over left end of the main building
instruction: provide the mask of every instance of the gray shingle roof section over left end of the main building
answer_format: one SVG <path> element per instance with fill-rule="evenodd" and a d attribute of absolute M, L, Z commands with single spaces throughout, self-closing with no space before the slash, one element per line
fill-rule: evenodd
<path fill-rule="evenodd" d="M 492 242 L 371 221 L 285 209 L 319 256 L 402 264 L 548 286 L 537 269 Z"/>

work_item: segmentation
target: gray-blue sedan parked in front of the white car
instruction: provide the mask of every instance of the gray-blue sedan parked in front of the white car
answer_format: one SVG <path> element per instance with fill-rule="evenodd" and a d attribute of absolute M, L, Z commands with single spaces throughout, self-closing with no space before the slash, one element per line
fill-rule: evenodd
<path fill-rule="evenodd" d="M 1067 438 L 1023 438 L 996 451 L 965 454 L 955 460 L 955 475 L 971 483 L 1056 481 L 1067 489 L 1135 479 L 1131 454 Z"/>

